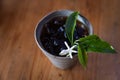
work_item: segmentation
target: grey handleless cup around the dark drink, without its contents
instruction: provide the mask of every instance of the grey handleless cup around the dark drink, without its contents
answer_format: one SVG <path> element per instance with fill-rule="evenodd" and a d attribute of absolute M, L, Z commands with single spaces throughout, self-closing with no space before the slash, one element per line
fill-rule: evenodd
<path fill-rule="evenodd" d="M 75 65 L 78 60 L 77 55 L 74 55 L 73 59 L 71 59 L 68 57 L 60 57 L 60 56 L 55 56 L 55 55 L 50 54 L 49 52 L 47 52 L 45 50 L 45 48 L 43 47 L 43 45 L 41 43 L 41 40 L 40 40 L 40 36 L 42 35 L 41 31 L 43 29 L 43 25 L 46 22 L 48 22 L 49 20 L 51 20 L 52 18 L 57 17 L 57 16 L 69 16 L 73 12 L 74 11 L 70 11 L 70 10 L 58 10 L 58 11 L 51 12 L 48 15 L 46 15 L 45 17 L 43 17 L 39 21 L 39 23 L 37 24 L 37 26 L 35 28 L 34 37 L 35 37 L 35 41 L 36 41 L 38 47 L 42 50 L 43 54 L 46 55 L 46 57 L 50 60 L 50 62 L 54 66 L 56 66 L 57 68 L 60 68 L 60 69 L 67 69 L 67 68 L 70 68 L 73 65 Z M 77 19 L 78 19 L 78 21 L 80 21 L 84 25 L 86 25 L 89 35 L 93 34 L 92 25 L 84 16 L 82 16 L 80 14 Z"/>

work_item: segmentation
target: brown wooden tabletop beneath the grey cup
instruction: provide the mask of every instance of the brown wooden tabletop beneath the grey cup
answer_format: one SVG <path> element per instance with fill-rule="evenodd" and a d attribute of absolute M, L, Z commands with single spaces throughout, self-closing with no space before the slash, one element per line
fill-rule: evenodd
<path fill-rule="evenodd" d="M 0 0 L 0 80 L 120 80 L 119 7 L 120 0 Z M 34 29 L 60 9 L 80 11 L 118 54 L 89 54 L 86 70 L 79 63 L 54 67 L 36 45 Z"/>

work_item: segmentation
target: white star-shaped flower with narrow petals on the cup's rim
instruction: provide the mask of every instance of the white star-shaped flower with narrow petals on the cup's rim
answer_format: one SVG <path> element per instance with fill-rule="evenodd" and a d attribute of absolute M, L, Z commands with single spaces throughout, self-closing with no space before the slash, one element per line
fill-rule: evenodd
<path fill-rule="evenodd" d="M 73 50 L 76 45 L 73 45 L 71 48 L 68 46 L 67 42 L 64 42 L 67 49 L 62 50 L 59 55 L 66 55 L 67 57 L 70 57 L 71 59 L 73 58 L 72 53 L 77 53 L 77 51 Z"/>

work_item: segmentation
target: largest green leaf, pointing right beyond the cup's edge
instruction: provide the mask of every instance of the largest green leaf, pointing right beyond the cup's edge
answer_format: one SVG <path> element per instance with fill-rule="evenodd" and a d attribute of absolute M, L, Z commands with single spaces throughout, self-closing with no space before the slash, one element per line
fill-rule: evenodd
<path fill-rule="evenodd" d="M 80 38 L 79 43 L 87 52 L 116 53 L 115 49 L 109 43 L 101 40 L 96 35 Z"/>

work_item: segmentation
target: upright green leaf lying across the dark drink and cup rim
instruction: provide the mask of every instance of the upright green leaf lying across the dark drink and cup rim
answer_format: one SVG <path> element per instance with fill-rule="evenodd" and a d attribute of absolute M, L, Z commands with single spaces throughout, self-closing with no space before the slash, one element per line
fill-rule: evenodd
<path fill-rule="evenodd" d="M 66 35 L 71 43 L 71 45 L 73 45 L 73 35 L 74 35 L 74 30 L 75 30 L 75 26 L 76 26 L 76 19 L 78 16 L 78 12 L 73 12 L 66 21 L 66 27 L 65 27 L 65 32 Z"/>

